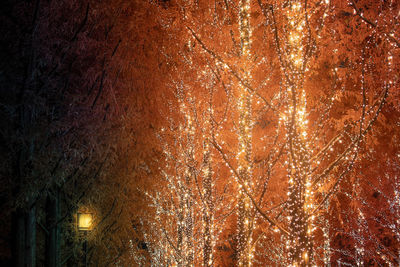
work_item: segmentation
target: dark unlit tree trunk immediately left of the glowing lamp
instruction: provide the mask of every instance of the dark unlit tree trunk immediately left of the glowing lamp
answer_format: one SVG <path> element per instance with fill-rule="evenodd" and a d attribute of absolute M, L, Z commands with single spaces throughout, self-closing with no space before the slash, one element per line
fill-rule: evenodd
<path fill-rule="evenodd" d="M 59 192 L 56 190 L 54 196 L 47 197 L 46 203 L 47 229 L 49 231 L 46 238 L 46 266 L 60 266 L 60 218 Z"/>

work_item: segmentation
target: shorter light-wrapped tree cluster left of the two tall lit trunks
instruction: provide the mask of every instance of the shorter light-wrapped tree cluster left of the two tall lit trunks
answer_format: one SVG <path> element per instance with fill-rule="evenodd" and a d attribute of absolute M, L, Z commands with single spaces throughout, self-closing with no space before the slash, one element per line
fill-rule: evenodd
<path fill-rule="evenodd" d="M 213 83 L 204 88 L 209 95 L 204 110 L 198 109 L 197 96 L 181 80 L 173 86 L 176 101 L 168 104 L 168 126 L 157 133 L 163 157 L 155 179 L 160 182 L 144 192 L 153 210 L 142 220 L 153 232 L 147 233 L 145 240 L 153 265 L 213 266 L 215 246 L 223 229 L 217 231 L 216 210 L 229 207 L 223 193 L 217 194 L 218 175 L 213 170 L 209 141 L 214 129 L 210 105 Z M 223 216 L 219 221 L 221 225 Z"/>

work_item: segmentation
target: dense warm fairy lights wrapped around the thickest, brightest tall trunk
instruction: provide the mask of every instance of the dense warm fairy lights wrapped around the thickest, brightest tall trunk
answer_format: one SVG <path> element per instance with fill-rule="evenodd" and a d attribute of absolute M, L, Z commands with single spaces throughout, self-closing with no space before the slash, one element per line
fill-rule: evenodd
<path fill-rule="evenodd" d="M 292 266 L 309 265 L 312 262 L 312 238 L 314 227 L 313 189 L 311 187 L 312 149 L 308 141 L 307 97 L 302 89 L 300 76 L 304 66 L 303 30 L 305 19 L 301 2 L 293 2 L 287 10 L 289 26 L 287 95 L 289 101 L 281 120 L 288 128 L 291 156 L 288 168 L 288 223 L 290 236 L 287 240 L 289 262 Z M 292 96 L 292 97 L 290 97 Z"/>

